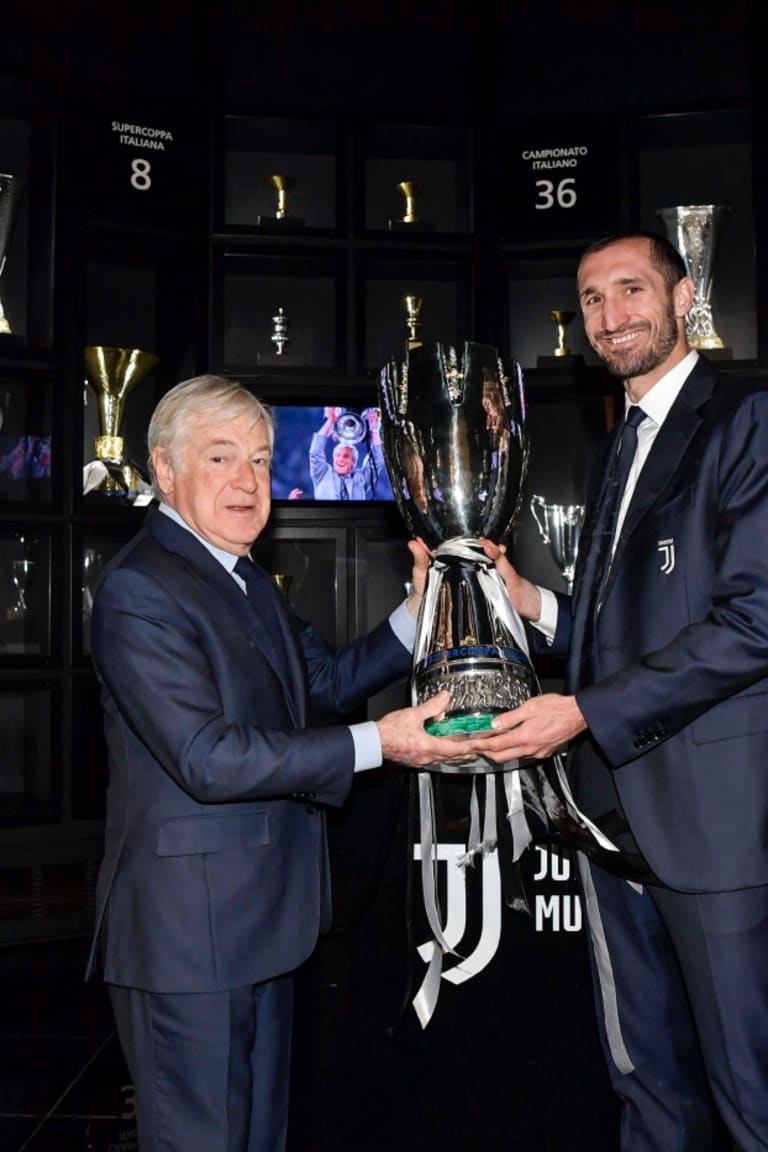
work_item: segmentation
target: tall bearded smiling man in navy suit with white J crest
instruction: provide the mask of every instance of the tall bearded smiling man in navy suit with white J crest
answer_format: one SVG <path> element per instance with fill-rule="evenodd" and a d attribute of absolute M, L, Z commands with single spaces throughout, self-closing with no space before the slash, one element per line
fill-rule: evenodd
<path fill-rule="evenodd" d="M 693 283 L 662 237 L 593 244 L 578 291 L 626 416 L 593 478 L 573 596 L 497 561 L 540 650 L 567 659 L 564 694 L 499 717 L 473 749 L 502 763 L 568 748 L 577 803 L 619 849 L 579 864 L 622 1152 L 756 1152 L 768 1149 L 768 393 L 689 349 Z"/>

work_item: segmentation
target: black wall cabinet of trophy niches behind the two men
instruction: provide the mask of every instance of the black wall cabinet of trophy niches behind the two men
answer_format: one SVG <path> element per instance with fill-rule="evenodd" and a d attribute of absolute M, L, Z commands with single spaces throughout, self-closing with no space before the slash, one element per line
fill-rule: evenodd
<path fill-rule="evenodd" d="M 185 377 L 241 379 L 277 407 L 280 437 L 290 409 L 317 422 L 375 406 L 409 340 L 495 344 L 523 366 L 531 437 L 510 547 L 562 588 L 531 505 L 583 499 L 617 394 L 577 314 L 579 253 L 660 228 L 662 209 L 721 207 L 713 355 L 733 377 L 768 370 L 766 138 L 745 107 L 617 112 L 572 131 L 198 113 L 127 91 L 86 105 L 0 81 L 0 941 L 85 929 L 100 852 L 90 615 L 143 510 L 120 487 L 83 491 L 105 432 L 84 348 L 152 357 L 120 429 L 140 470 L 150 414 Z M 257 551 L 342 643 L 403 596 L 405 531 L 380 487 L 342 506 L 303 485 L 280 488 Z"/>

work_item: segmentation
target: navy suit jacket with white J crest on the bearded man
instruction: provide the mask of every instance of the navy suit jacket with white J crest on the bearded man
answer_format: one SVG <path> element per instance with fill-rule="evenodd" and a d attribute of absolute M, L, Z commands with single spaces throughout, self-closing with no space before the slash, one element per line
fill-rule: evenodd
<path fill-rule="evenodd" d="M 615 447 L 609 438 L 599 475 Z M 575 596 L 560 598 L 592 741 L 655 874 L 684 892 L 768 884 L 768 392 L 699 358 L 632 495 L 584 674 L 600 487 L 587 510 Z M 578 794 L 577 794 L 578 799 Z"/>

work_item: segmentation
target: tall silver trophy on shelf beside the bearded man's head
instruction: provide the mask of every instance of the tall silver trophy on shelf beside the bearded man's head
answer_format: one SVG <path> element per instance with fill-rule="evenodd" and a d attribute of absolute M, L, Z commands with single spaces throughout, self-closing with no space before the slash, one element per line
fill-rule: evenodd
<path fill-rule="evenodd" d="M 685 317 L 685 333 L 691 348 L 722 348 L 712 318 L 713 264 L 728 207 L 721 204 L 680 204 L 659 209 L 667 237 L 683 257 L 695 291 Z"/>

